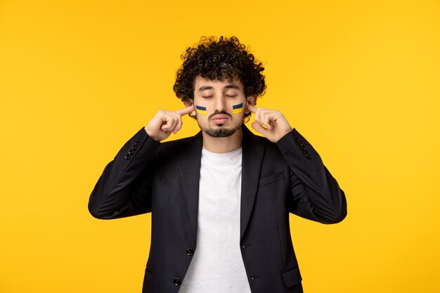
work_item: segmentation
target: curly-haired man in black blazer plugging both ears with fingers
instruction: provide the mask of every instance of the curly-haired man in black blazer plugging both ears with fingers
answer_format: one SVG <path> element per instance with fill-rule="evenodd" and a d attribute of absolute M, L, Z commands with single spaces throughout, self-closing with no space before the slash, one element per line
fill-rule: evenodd
<path fill-rule="evenodd" d="M 261 63 L 237 38 L 188 48 L 174 91 L 105 167 L 89 211 L 152 212 L 144 293 L 302 292 L 289 212 L 321 223 L 347 214 L 344 192 L 280 111 L 255 107 Z M 252 128 L 243 124 L 254 113 Z M 161 143 L 195 117 L 201 131 Z"/>

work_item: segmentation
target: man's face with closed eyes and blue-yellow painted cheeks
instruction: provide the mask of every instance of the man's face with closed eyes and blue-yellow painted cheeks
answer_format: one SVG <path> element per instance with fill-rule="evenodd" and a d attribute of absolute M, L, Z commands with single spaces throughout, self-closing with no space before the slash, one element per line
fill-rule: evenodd
<path fill-rule="evenodd" d="M 229 82 L 198 76 L 195 78 L 193 103 L 202 131 L 213 137 L 228 137 L 241 128 L 247 103 L 253 105 L 254 97 L 245 97 L 238 79 Z"/>

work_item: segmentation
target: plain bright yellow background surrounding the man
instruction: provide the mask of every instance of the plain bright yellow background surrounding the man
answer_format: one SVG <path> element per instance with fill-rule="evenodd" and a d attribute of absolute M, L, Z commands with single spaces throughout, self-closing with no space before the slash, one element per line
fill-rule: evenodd
<path fill-rule="evenodd" d="M 150 215 L 89 194 L 201 35 L 261 60 L 280 109 L 347 194 L 291 216 L 307 293 L 440 292 L 439 1 L 0 1 L 0 292 L 141 292 Z M 184 119 L 172 139 L 195 134 Z M 171 280 L 170 280 L 171 282 Z"/>

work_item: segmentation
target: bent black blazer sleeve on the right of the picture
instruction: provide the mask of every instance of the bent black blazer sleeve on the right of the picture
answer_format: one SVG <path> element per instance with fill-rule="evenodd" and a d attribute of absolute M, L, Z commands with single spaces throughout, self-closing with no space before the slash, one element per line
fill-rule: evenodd
<path fill-rule="evenodd" d="M 320 223 L 339 223 L 347 216 L 347 199 L 318 152 L 296 129 L 277 143 L 290 169 L 290 212 Z"/>

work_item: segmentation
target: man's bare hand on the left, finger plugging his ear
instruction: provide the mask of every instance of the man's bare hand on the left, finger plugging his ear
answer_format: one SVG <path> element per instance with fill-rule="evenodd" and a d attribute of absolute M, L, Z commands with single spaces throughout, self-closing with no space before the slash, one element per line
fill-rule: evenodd
<path fill-rule="evenodd" d="M 148 136 L 155 141 L 163 141 L 182 128 L 182 116 L 194 111 L 193 105 L 181 110 L 160 110 L 145 126 Z"/>

